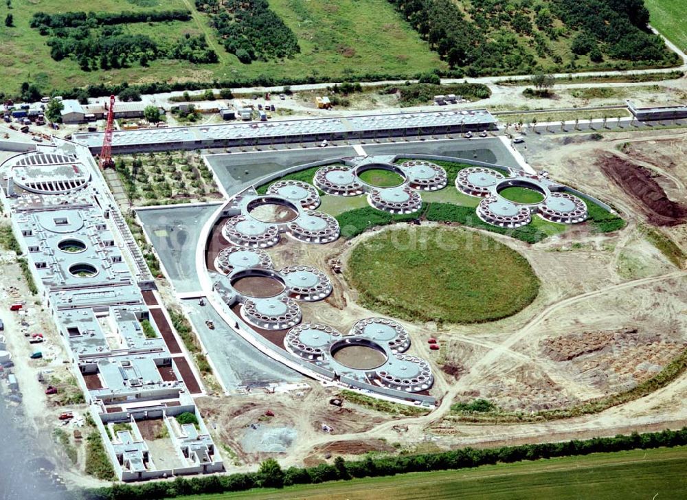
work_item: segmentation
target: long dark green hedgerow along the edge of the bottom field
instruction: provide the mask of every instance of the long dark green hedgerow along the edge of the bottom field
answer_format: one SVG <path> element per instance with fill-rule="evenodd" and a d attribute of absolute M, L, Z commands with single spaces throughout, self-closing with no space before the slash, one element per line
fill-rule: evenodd
<path fill-rule="evenodd" d="M 174 481 L 155 481 L 145 484 L 113 484 L 110 488 L 85 490 L 82 500 L 156 500 L 184 495 L 218 494 L 250 490 L 251 488 L 281 488 L 294 484 L 317 484 L 326 481 L 361 477 L 392 476 L 431 470 L 458 470 L 491 464 L 510 464 L 552 457 L 570 457 L 633 449 L 651 449 L 687 444 L 687 427 L 679 431 L 631 433 L 615 437 L 593 437 L 588 440 L 522 444 L 500 448 L 460 448 L 442 453 L 367 457 L 344 460 L 337 457 L 333 464 L 315 467 L 289 467 L 282 470 L 275 459 L 267 459 L 255 473 L 211 475 L 206 477 L 177 477 Z"/>

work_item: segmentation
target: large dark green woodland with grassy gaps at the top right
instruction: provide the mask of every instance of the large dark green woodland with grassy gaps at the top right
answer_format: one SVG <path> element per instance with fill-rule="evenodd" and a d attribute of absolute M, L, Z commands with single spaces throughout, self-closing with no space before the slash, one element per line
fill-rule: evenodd
<path fill-rule="evenodd" d="M 589 54 L 592 62 L 604 56 L 654 65 L 677 60 L 647 29 L 644 0 L 472 0 L 464 4 L 469 19 L 453 0 L 389 2 L 452 69 L 468 76 L 530 73 L 538 65 L 535 54 L 561 68 L 563 58 L 550 46 L 561 37 L 573 37 L 574 58 Z M 564 25 L 556 26 L 556 19 Z M 576 68 L 574 58 L 567 69 Z"/>

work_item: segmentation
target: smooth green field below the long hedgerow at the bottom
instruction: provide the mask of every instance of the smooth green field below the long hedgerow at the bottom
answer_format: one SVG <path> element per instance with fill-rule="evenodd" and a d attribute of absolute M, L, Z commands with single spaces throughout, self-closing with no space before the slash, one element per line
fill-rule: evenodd
<path fill-rule="evenodd" d="M 573 500 L 687 497 L 687 447 L 594 453 L 469 470 L 249 490 L 184 500 Z"/>

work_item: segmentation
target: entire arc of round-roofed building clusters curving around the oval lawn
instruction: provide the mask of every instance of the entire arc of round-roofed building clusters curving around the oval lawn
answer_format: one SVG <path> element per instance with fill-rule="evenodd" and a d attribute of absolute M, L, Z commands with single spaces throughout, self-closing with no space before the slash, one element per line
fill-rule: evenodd
<path fill-rule="evenodd" d="M 447 187 L 449 176 L 438 164 L 427 159 L 394 160 L 389 156 L 339 159 L 319 168 L 312 185 L 280 180 L 264 194 L 246 190 L 232 198 L 221 229 L 231 246 L 216 254 L 214 289 L 256 334 L 282 332 L 284 337 L 264 338 L 283 344 L 292 361 L 316 367 L 318 373 L 331 374 L 332 380 L 342 383 L 421 398 L 425 396 L 417 393 L 426 394 L 433 376 L 427 361 L 406 353 L 410 338 L 400 323 L 361 319 L 343 334 L 333 326 L 303 322 L 299 304 L 326 299 L 333 289 L 329 277 L 311 266 L 274 269 L 266 251 L 284 237 L 313 244 L 339 238 L 337 220 L 317 210 L 320 191 L 367 196 L 368 204 L 376 209 L 414 214 L 422 208 L 423 193 Z M 378 179 L 384 182 L 374 185 L 372 181 Z M 513 187 L 536 191 L 541 200 L 517 203 L 502 196 L 503 190 Z M 467 166 L 458 171 L 455 188 L 482 198 L 477 216 L 499 227 L 526 225 L 534 214 L 567 224 L 587 217 L 585 203 L 565 186 L 510 168 Z"/>

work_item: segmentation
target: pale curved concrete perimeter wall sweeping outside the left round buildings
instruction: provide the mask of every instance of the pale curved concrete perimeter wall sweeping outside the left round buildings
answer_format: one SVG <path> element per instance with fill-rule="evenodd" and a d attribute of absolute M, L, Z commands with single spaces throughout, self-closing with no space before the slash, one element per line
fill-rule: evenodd
<path fill-rule="evenodd" d="M 311 164 L 310 166 L 319 166 L 320 164 L 325 163 L 315 162 L 315 164 Z M 293 171 L 297 170 L 302 170 L 302 168 L 295 168 Z M 282 172 L 280 175 L 284 175 L 284 173 Z M 269 180 L 267 182 L 269 182 Z M 368 383 L 360 382 L 359 380 L 354 380 L 348 377 L 342 377 L 340 381 L 334 380 L 336 374 L 333 371 L 326 370 L 325 368 L 314 365 L 313 363 L 308 363 L 307 361 L 302 360 L 299 356 L 295 356 L 286 350 L 280 350 L 260 334 L 254 333 L 253 329 L 250 328 L 240 317 L 237 317 L 234 312 L 229 309 L 227 304 L 219 300 L 216 293 L 214 293 L 212 289 L 212 280 L 210 279 L 210 273 L 207 271 L 207 266 L 205 263 L 205 244 L 207 242 L 207 238 L 210 236 L 212 227 L 216 225 L 217 220 L 221 218 L 223 211 L 229 207 L 229 205 L 231 205 L 231 202 L 227 201 L 227 203 L 218 207 L 210 219 L 207 220 L 205 226 L 203 227 L 203 231 L 201 231 L 201 237 L 198 240 L 198 245 L 196 245 L 196 272 L 198 273 L 201 288 L 205 293 L 205 297 L 207 298 L 208 302 L 210 302 L 210 305 L 216 310 L 217 314 L 220 315 L 225 323 L 227 323 L 229 328 L 232 328 L 232 330 L 243 337 L 243 339 L 251 343 L 251 345 L 260 350 L 260 352 L 263 354 L 267 354 L 267 356 L 271 357 L 275 361 L 288 366 L 296 372 L 302 373 L 311 378 L 315 378 L 316 380 L 321 380 L 322 382 L 327 383 L 336 383 L 344 389 L 350 389 L 352 387 L 364 391 L 370 391 L 373 395 L 378 393 L 382 396 L 392 398 L 396 402 L 405 402 L 406 404 L 408 401 L 420 401 L 429 405 L 436 403 L 436 398 L 433 398 L 432 396 L 395 391 L 394 389 L 370 385 Z"/>

